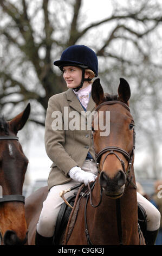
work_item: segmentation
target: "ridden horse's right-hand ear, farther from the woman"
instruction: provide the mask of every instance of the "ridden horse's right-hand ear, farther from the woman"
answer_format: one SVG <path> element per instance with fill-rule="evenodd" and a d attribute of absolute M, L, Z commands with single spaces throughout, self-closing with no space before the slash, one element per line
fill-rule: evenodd
<path fill-rule="evenodd" d="M 128 82 L 124 78 L 120 78 L 118 87 L 118 100 L 126 103 L 129 106 L 129 99 L 131 97 L 131 89 Z"/>

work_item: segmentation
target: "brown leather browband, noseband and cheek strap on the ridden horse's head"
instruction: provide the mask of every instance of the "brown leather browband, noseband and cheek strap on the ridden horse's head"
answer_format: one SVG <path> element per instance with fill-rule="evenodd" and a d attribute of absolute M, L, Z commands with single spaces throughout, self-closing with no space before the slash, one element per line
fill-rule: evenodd
<path fill-rule="evenodd" d="M 112 105 L 112 104 L 120 104 L 123 107 L 125 107 L 127 109 L 127 111 L 130 112 L 130 108 L 124 102 L 117 101 L 117 100 L 102 102 L 95 109 L 95 111 L 98 112 L 99 109 L 101 108 L 101 106 L 103 106 L 103 105 Z M 111 154 L 115 155 L 119 159 L 119 161 L 121 162 L 122 169 L 124 170 L 124 173 L 126 174 L 126 179 L 128 180 L 129 184 L 131 184 L 136 189 L 137 186 L 134 184 L 134 182 L 132 182 L 132 177 L 130 178 L 128 176 L 129 173 L 131 172 L 131 167 L 132 167 L 132 162 L 133 162 L 133 157 L 134 157 L 134 149 L 135 149 L 135 131 L 133 130 L 133 148 L 132 148 L 131 152 L 127 153 L 124 149 L 121 149 L 121 148 L 115 147 L 115 146 L 105 147 L 105 148 L 101 149 L 99 151 L 99 153 L 96 154 L 96 162 L 97 162 L 97 165 L 98 165 L 98 169 L 99 169 L 100 159 L 101 159 L 101 156 L 103 154 L 108 152 L 106 154 L 105 158 L 103 159 L 103 163 L 105 162 L 105 160 L 106 160 L 108 155 L 111 155 Z M 122 159 L 120 159 L 120 157 L 114 151 L 118 152 L 118 153 L 121 153 L 126 158 L 126 160 L 128 161 L 128 168 L 127 168 L 127 170 L 125 170 L 124 161 Z M 102 163 L 102 166 L 103 166 L 103 163 Z"/>

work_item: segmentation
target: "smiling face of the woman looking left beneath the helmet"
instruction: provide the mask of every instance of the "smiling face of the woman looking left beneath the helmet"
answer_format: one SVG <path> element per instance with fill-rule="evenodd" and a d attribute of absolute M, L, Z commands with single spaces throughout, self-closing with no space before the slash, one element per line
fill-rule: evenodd
<path fill-rule="evenodd" d="M 74 89 L 80 86 L 82 80 L 82 69 L 77 66 L 64 66 L 63 78 L 67 83 L 67 87 Z"/>

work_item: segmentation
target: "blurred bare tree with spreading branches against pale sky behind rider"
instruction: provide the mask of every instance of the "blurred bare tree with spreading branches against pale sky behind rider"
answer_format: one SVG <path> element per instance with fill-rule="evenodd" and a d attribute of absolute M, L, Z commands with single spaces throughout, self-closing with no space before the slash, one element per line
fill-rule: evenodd
<path fill-rule="evenodd" d="M 107 92 L 116 91 L 119 77 L 131 85 L 139 141 L 147 141 L 158 127 L 161 134 L 162 3 L 107 0 L 102 7 L 107 15 L 98 19 L 102 1 L 93 1 L 93 21 L 88 11 L 85 15 L 86 3 L 1 0 L 1 112 L 10 118 L 13 108 L 30 101 L 31 120 L 44 126 L 49 97 L 66 90 L 53 61 L 68 46 L 86 44 L 99 57 L 99 76 Z"/>

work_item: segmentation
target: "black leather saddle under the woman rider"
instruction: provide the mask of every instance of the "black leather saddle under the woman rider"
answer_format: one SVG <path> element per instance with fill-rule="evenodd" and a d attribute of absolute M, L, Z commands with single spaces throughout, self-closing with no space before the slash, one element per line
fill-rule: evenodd
<path fill-rule="evenodd" d="M 87 190 L 87 187 L 83 187 L 85 190 Z M 75 198 L 76 198 L 76 192 L 74 193 L 74 196 L 71 196 L 67 199 L 67 202 L 74 206 Z M 80 199 L 85 196 L 85 191 L 81 191 L 79 199 L 77 199 L 77 204 L 79 205 Z M 77 217 L 77 210 L 78 206 L 75 209 L 75 214 L 73 213 L 73 223 L 69 227 L 69 234 L 72 233 L 76 217 Z M 54 234 L 54 240 L 53 243 L 54 245 L 60 245 L 60 238 L 63 234 L 63 231 L 66 230 L 70 214 L 72 212 L 72 208 L 70 208 L 66 203 L 63 203 L 61 206 L 61 209 L 59 211 L 59 215 L 57 216 L 57 221 L 56 221 L 56 227 L 55 227 L 55 234 Z M 142 231 L 142 234 L 145 237 L 146 230 L 147 230 L 147 221 L 146 221 L 146 211 L 145 209 L 138 203 L 138 229 Z"/>

